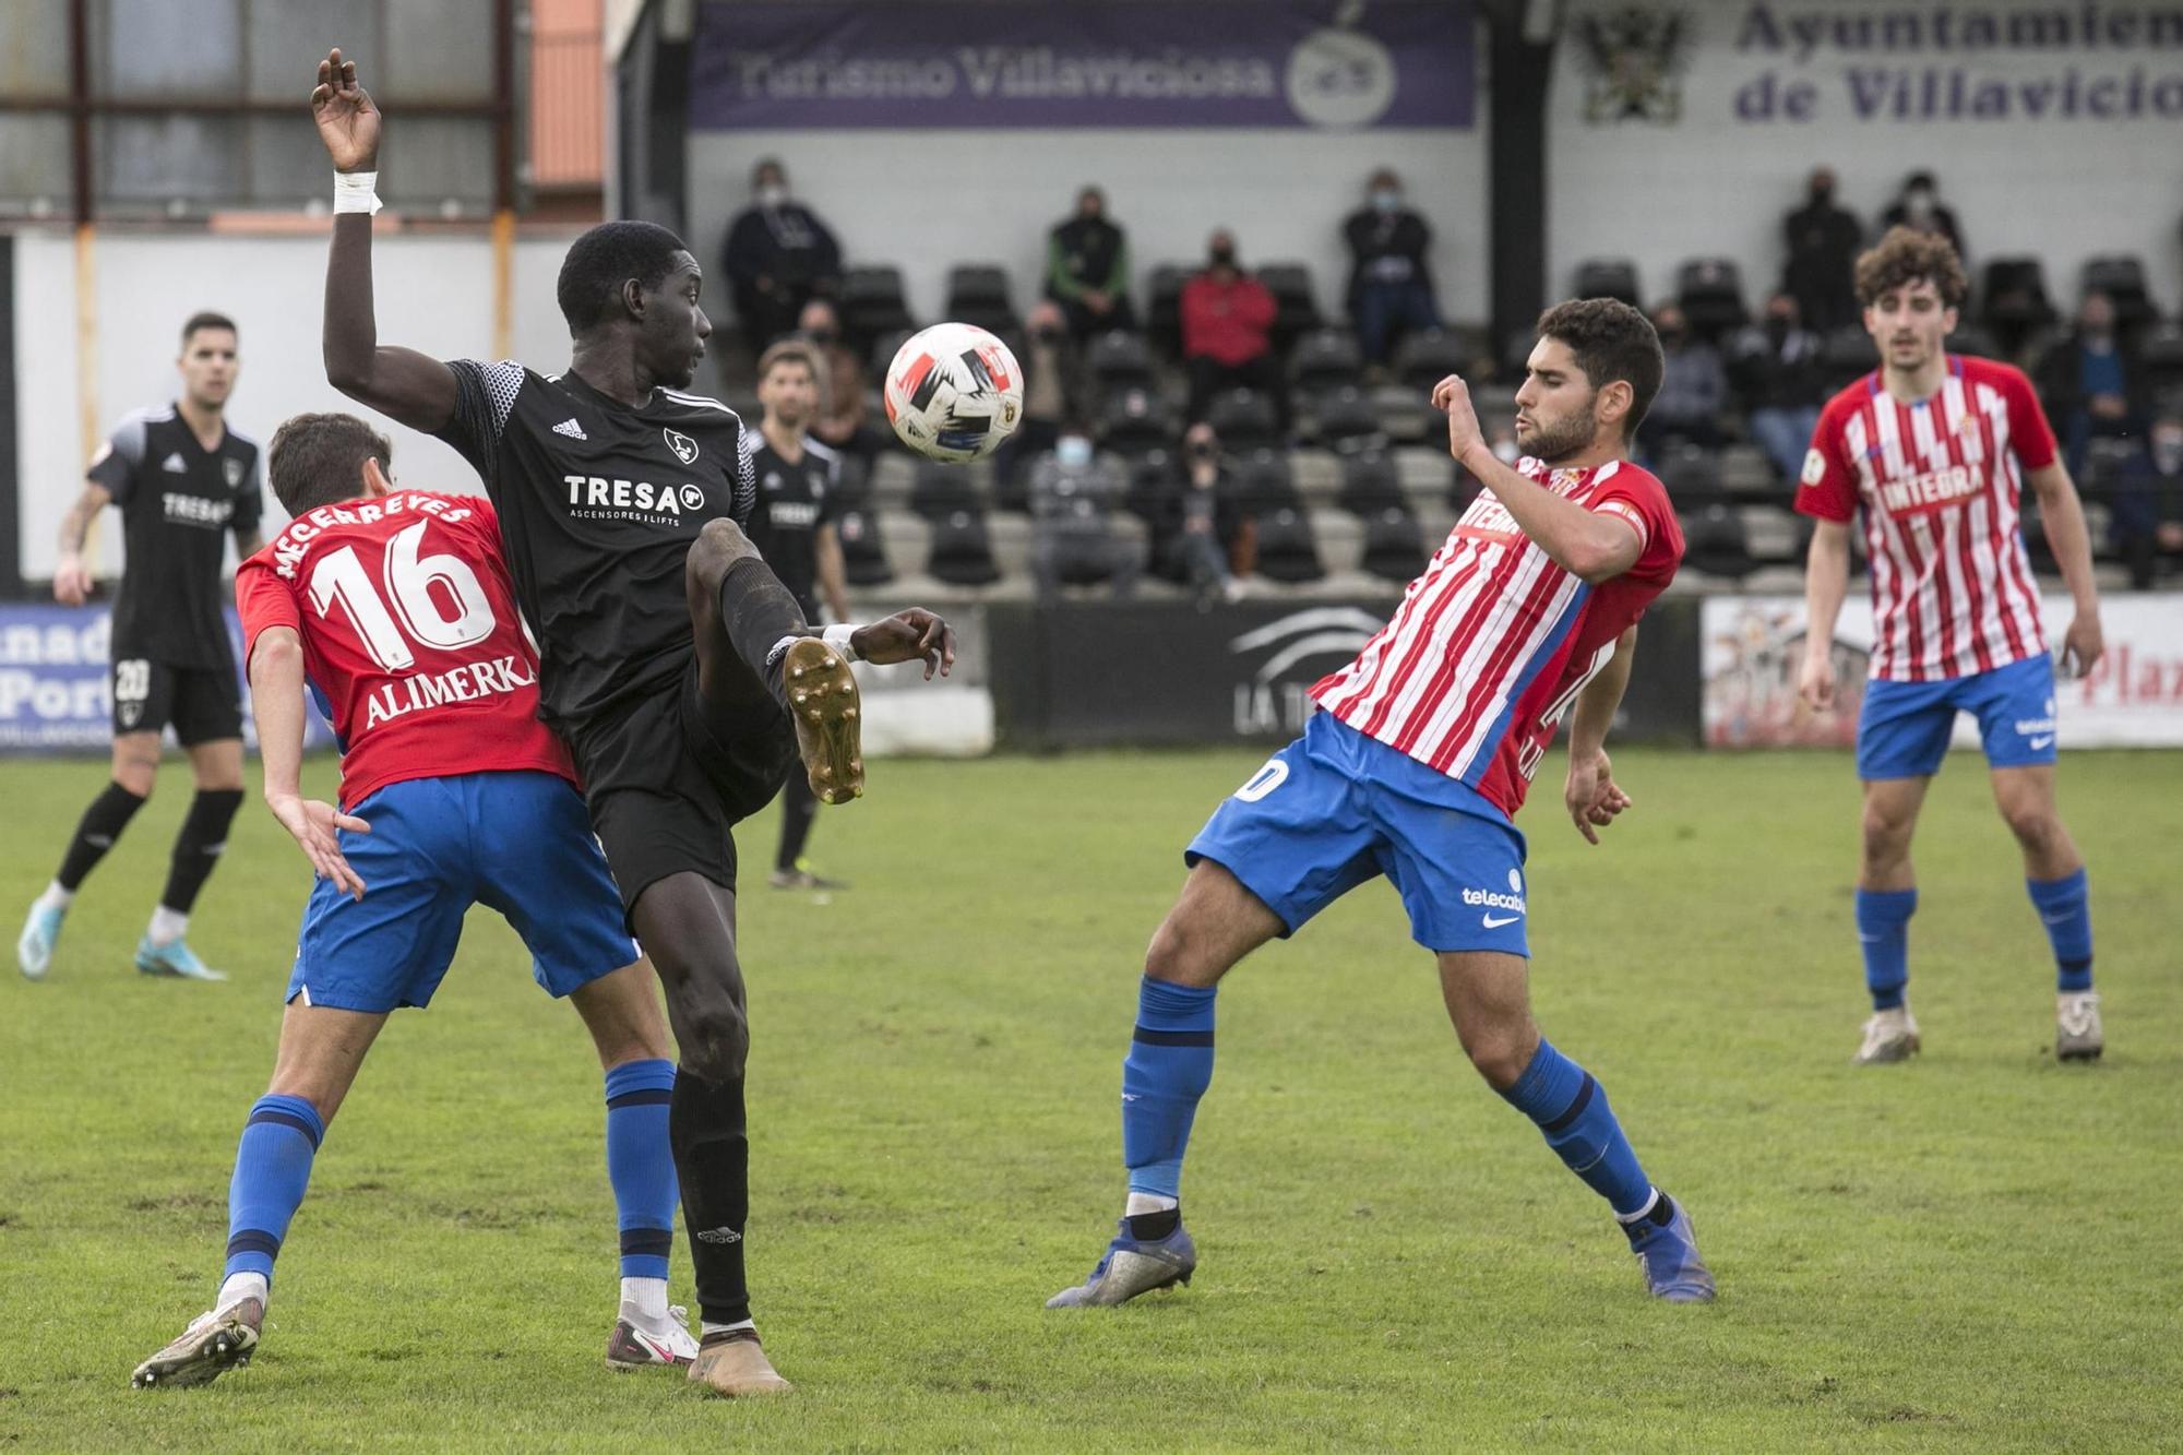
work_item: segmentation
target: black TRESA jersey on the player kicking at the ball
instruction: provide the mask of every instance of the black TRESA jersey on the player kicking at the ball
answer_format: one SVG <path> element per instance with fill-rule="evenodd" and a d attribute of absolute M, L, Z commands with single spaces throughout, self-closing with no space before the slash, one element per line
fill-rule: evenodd
<path fill-rule="evenodd" d="M 441 430 L 500 511 L 515 601 L 539 642 L 539 714 L 572 732 L 681 677 L 694 653 L 683 570 L 707 520 L 749 529 L 758 487 L 733 409 L 655 389 L 642 409 L 574 374 L 448 365 Z"/>

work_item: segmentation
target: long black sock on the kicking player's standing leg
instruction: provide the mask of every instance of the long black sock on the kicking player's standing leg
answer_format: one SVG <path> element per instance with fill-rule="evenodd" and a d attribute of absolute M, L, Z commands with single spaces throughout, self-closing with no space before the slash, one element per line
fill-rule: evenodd
<path fill-rule="evenodd" d="M 688 1066 L 677 1068 L 668 1145 L 681 1182 L 699 1315 L 707 1324 L 742 1324 L 751 1317 L 751 1289 L 742 1278 L 742 1226 L 751 1212 L 742 1079 L 705 1081 Z"/>

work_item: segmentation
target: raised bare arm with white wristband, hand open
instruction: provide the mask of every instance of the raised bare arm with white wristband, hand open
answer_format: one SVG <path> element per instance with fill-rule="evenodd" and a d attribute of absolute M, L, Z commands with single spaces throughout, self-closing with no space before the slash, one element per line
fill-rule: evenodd
<path fill-rule="evenodd" d="M 380 347 L 371 301 L 380 109 L 356 83 L 356 61 L 343 61 L 341 50 L 319 61 L 310 114 L 334 173 L 343 177 L 334 199 L 334 247 L 325 260 L 325 382 L 410 428 L 439 433 L 454 415 L 454 374 L 430 354 Z"/>

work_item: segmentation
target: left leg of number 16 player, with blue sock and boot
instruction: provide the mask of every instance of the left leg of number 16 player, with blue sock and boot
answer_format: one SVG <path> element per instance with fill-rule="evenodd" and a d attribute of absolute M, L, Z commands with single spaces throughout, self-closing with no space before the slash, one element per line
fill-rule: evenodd
<path fill-rule="evenodd" d="M 251 1361 L 273 1291 L 273 1261 L 303 1204 L 310 1164 L 384 1014 L 290 1005 L 273 1090 L 251 1105 L 227 1184 L 227 1267 L 212 1311 L 129 1376 L 138 1389 L 203 1385 Z"/>

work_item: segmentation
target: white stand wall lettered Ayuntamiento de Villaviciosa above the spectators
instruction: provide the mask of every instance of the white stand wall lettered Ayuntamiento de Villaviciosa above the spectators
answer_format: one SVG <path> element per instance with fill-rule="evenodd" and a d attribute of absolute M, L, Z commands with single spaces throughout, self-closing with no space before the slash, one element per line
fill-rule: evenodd
<path fill-rule="evenodd" d="M 1642 35 L 1622 28 L 1633 11 Z M 1646 116 L 1596 120 L 1624 103 Z M 1650 301 L 1683 258 L 1727 256 L 1757 301 L 1781 214 L 1829 164 L 1869 225 L 1930 168 L 1973 275 L 2037 256 L 2067 308 L 2085 258 L 2137 253 L 2163 312 L 2183 301 L 2176 4 L 1570 0 L 1550 107 L 1554 288 L 1585 258 L 1633 258 Z"/>

